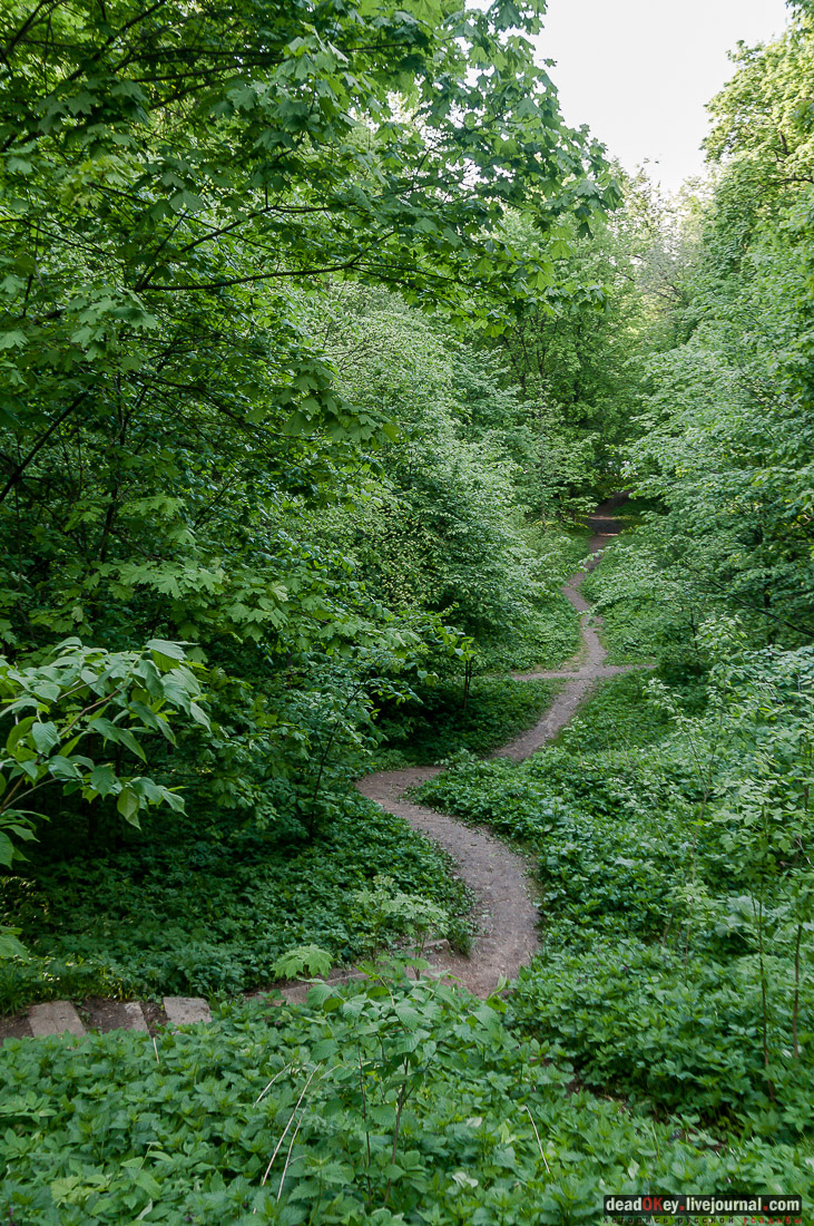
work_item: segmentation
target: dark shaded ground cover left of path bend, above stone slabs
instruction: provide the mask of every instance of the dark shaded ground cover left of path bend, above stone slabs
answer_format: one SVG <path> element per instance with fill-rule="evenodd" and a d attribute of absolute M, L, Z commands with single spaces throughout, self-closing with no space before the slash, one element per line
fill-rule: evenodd
<path fill-rule="evenodd" d="M 0 915 L 32 954 L 0 962 L 1 1011 L 95 993 L 237 993 L 272 982 L 277 959 L 307 943 L 348 961 L 373 932 L 398 935 L 355 897 L 382 874 L 390 893 L 443 907 L 443 934 L 465 942 L 465 891 L 446 857 L 356 793 L 312 842 L 266 841 L 229 813 L 152 818 L 125 840 L 0 879 Z"/>

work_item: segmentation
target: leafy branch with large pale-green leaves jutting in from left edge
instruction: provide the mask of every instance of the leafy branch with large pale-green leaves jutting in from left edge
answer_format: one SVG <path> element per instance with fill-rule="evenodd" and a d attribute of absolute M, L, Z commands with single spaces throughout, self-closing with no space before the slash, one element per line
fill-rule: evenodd
<path fill-rule="evenodd" d="M 66 639 L 44 662 L 18 667 L 0 657 L 0 864 L 24 859 L 21 843 L 48 820 L 49 794 L 78 794 L 88 805 L 115 799 L 116 812 L 138 826 L 148 805 L 182 810 L 173 788 L 129 769 L 146 763 L 143 739 L 159 733 L 175 743 L 179 712 L 208 728 L 201 706 L 201 666 L 184 646 L 160 639 L 143 651 L 110 652 Z M 21 955 L 16 929 L 0 932 L 0 956 Z"/>

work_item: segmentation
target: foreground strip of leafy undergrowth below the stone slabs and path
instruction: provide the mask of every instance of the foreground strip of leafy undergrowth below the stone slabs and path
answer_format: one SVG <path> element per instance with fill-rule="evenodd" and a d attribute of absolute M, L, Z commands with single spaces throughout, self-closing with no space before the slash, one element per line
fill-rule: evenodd
<path fill-rule="evenodd" d="M 805 1156 L 716 1144 L 574 1086 L 567 1060 L 476 1002 L 395 972 L 208 1026 L 12 1041 L 0 1215 L 120 1222 L 572 1226 L 602 1195 L 814 1193 Z"/>

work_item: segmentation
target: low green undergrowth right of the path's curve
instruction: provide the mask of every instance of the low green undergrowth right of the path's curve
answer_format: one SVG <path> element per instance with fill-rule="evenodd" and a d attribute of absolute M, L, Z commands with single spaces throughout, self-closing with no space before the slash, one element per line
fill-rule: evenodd
<path fill-rule="evenodd" d="M 797 1141 L 814 1133 L 805 929 L 776 877 L 758 893 L 733 857 L 708 750 L 670 732 L 646 685 L 613 679 L 557 745 L 520 765 L 461 763 L 421 794 L 536 857 L 543 944 L 512 997 L 517 1034 L 657 1118 Z M 673 698 L 698 706 L 692 688 Z M 739 750 L 716 753 L 716 777 L 749 770 Z"/>

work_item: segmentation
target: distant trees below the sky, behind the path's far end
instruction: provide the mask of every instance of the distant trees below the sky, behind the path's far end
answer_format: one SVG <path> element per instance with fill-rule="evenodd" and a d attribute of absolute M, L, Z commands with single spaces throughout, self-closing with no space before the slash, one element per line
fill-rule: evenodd
<path fill-rule="evenodd" d="M 583 242 L 563 230 L 567 242 L 547 246 L 554 284 L 542 302 L 526 299 L 496 342 L 525 408 L 514 440 L 521 485 L 543 516 L 585 512 L 597 488 L 617 488 L 617 447 L 638 407 L 650 318 L 638 286 L 644 240 L 637 195 L 625 181 L 625 217 L 599 224 Z M 515 226 L 526 246 L 541 249 L 526 223 Z"/>

